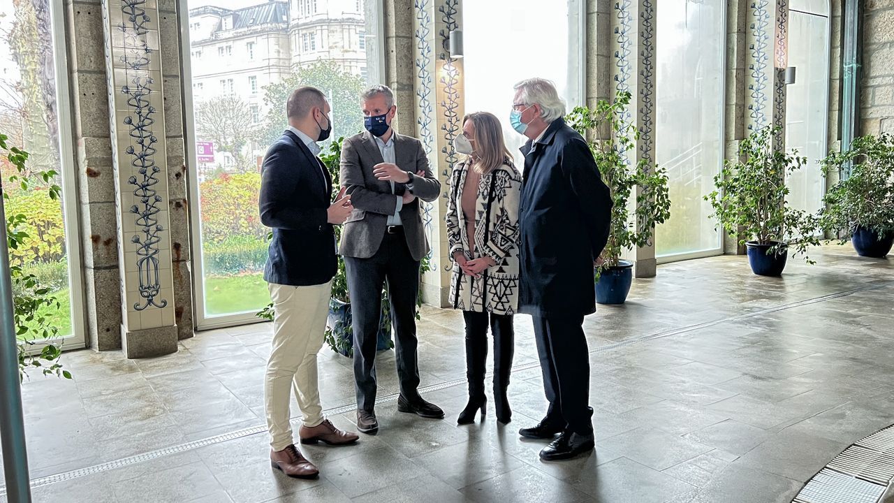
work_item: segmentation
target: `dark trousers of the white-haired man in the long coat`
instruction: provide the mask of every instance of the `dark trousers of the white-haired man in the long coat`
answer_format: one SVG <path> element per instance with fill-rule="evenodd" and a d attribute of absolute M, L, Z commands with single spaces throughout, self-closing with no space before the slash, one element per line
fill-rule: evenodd
<path fill-rule="evenodd" d="M 550 402 L 546 420 L 587 435 L 593 431 L 593 409 L 588 405 L 590 354 L 583 324 L 583 316 L 534 317 L 540 370 Z"/>

